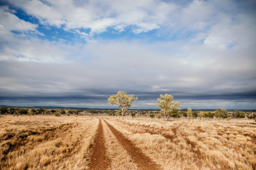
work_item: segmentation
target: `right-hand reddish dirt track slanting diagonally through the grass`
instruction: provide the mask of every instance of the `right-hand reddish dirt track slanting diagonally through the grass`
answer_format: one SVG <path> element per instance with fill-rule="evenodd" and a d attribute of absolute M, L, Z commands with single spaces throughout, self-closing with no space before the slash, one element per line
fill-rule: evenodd
<path fill-rule="evenodd" d="M 112 125 L 110 125 L 108 122 L 106 122 L 106 125 L 110 128 L 112 133 L 116 136 L 116 138 L 119 140 L 119 142 L 123 145 L 123 147 L 126 149 L 126 151 L 131 155 L 131 157 L 134 159 L 134 162 L 138 164 L 138 167 L 140 169 L 145 170 L 156 170 L 160 169 L 159 165 L 156 164 L 151 160 L 150 157 L 146 156 L 144 153 L 141 152 L 133 143 L 131 140 L 127 139 L 121 132 L 116 130 Z"/>

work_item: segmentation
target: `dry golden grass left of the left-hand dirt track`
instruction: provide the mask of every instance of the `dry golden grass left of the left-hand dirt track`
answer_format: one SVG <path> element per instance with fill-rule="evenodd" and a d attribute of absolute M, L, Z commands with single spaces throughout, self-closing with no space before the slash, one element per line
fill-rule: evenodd
<path fill-rule="evenodd" d="M 98 120 L 35 116 L 1 120 L 1 169 L 81 169 Z"/>

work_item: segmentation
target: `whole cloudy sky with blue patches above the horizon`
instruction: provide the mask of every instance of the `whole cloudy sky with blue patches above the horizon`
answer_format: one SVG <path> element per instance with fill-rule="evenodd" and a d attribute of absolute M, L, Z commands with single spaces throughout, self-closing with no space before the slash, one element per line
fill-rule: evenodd
<path fill-rule="evenodd" d="M 256 1 L 0 1 L 0 105 L 256 109 Z"/>

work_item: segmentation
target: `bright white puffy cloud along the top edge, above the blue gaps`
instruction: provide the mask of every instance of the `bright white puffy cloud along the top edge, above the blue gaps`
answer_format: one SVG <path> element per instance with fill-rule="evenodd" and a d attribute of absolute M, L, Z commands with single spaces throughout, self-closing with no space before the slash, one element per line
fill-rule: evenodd
<path fill-rule="evenodd" d="M 73 1 L 10 0 L 26 13 L 37 17 L 42 24 L 64 26 L 65 30 L 91 29 L 92 34 L 99 34 L 113 27 L 122 32 L 125 27 L 134 25 L 147 32 L 159 28 L 174 11 L 176 5 L 160 1 L 88 1 L 77 7 Z M 51 4 L 51 5 L 49 5 Z M 145 28 L 145 25 L 149 26 Z"/>

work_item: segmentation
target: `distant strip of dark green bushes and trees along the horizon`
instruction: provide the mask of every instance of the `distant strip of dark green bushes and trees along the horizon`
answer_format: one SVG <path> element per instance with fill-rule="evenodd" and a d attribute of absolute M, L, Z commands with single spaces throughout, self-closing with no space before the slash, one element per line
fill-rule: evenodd
<path fill-rule="evenodd" d="M 103 109 L 97 109 L 97 110 L 91 110 L 91 109 L 43 109 L 43 108 L 13 108 L 13 107 L 6 107 L 3 106 L 0 108 L 0 114 L 2 116 L 7 115 L 7 114 L 12 114 L 12 115 L 23 115 L 23 114 L 54 114 L 56 116 L 59 115 L 70 115 L 70 114 L 81 114 L 81 113 L 87 113 L 87 114 L 108 114 L 112 116 L 117 116 L 121 115 L 120 110 L 103 110 Z M 155 117 L 153 115 L 158 115 L 158 118 L 161 117 L 161 111 L 160 110 L 127 110 L 125 112 L 125 116 L 131 115 L 133 117 L 137 116 L 143 116 L 143 115 L 151 115 L 151 117 Z M 174 110 L 170 113 L 168 113 L 168 118 L 173 117 L 173 118 L 180 118 L 180 117 L 191 117 L 191 118 L 222 118 L 222 119 L 228 119 L 228 118 L 250 118 L 250 119 L 256 119 L 256 113 L 253 112 L 252 110 L 248 111 L 239 111 L 239 110 L 232 110 L 228 111 L 226 109 L 217 109 L 217 110 L 192 110 L 191 113 L 188 113 L 186 110 Z"/>

